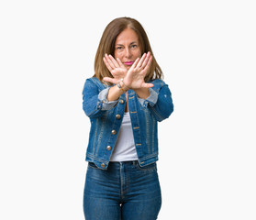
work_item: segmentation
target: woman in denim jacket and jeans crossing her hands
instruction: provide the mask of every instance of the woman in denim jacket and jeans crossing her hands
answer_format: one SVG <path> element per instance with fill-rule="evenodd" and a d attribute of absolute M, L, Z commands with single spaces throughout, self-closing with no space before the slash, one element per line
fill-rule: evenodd
<path fill-rule="evenodd" d="M 83 195 L 86 220 L 155 220 L 161 208 L 157 122 L 173 112 L 168 85 L 145 30 L 133 18 L 110 22 L 83 87 L 91 131 Z"/>

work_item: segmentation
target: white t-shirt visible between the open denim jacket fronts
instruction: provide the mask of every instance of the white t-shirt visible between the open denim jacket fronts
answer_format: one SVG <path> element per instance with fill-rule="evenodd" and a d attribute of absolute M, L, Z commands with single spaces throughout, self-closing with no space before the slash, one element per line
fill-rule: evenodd
<path fill-rule="evenodd" d="M 110 161 L 138 160 L 129 113 L 125 112 Z"/>

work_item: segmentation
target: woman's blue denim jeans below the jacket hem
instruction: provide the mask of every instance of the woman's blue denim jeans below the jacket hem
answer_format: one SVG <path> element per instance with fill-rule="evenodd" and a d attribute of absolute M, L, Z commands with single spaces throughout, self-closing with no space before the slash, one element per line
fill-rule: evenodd
<path fill-rule="evenodd" d="M 156 163 L 110 162 L 107 170 L 89 162 L 83 194 L 86 220 L 156 220 L 161 189 Z"/>

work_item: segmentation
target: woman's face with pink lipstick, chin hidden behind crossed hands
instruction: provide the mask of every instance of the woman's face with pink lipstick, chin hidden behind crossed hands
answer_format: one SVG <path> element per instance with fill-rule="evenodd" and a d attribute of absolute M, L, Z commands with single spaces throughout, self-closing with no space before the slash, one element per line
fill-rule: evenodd
<path fill-rule="evenodd" d="M 128 69 L 137 58 L 141 57 L 139 38 L 134 30 L 126 28 L 117 36 L 114 56 Z"/>

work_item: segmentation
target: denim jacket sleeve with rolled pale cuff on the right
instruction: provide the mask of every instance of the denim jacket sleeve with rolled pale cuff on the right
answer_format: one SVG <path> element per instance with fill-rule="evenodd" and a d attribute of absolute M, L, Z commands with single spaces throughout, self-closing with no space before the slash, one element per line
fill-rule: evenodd
<path fill-rule="evenodd" d="M 138 99 L 142 107 L 149 108 L 151 114 L 159 122 L 168 118 L 173 113 L 172 93 L 168 85 L 162 81 L 160 88 L 156 90 L 150 88 L 150 96 L 146 100 Z"/>

